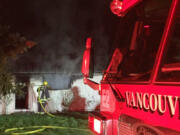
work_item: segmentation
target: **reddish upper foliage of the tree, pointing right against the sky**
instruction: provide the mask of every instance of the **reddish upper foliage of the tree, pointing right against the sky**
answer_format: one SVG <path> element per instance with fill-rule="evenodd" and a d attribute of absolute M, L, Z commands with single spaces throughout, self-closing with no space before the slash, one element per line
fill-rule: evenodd
<path fill-rule="evenodd" d="M 28 48 L 35 44 L 32 41 L 27 41 L 19 33 L 11 32 L 9 26 L 0 25 L 0 57 L 2 60 L 16 58 L 18 54 L 27 52 Z"/>

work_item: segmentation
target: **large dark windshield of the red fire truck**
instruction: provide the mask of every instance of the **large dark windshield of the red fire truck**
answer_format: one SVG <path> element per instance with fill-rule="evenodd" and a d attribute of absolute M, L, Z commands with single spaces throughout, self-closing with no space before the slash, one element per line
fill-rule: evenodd
<path fill-rule="evenodd" d="M 149 80 L 168 15 L 168 4 L 161 3 L 162 7 L 157 4 L 157 8 L 150 9 L 146 8 L 146 3 L 123 18 L 120 39 L 104 72 L 104 81 Z"/>

